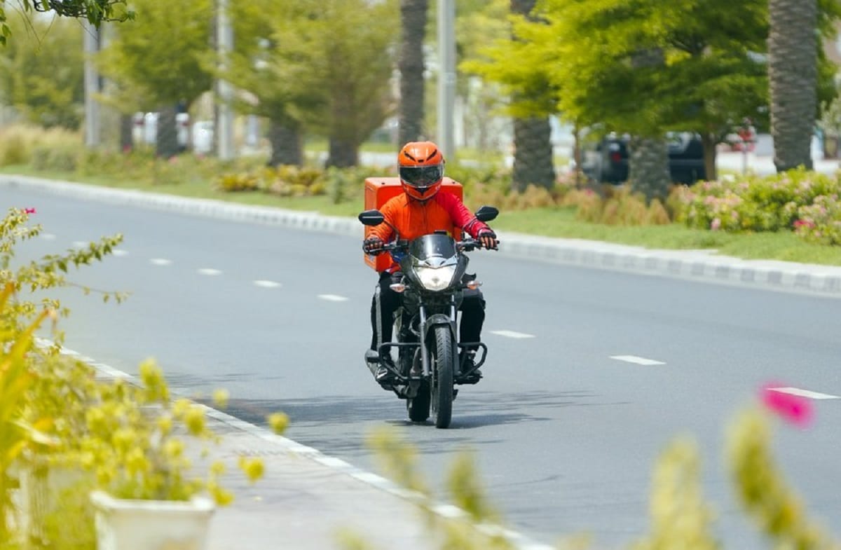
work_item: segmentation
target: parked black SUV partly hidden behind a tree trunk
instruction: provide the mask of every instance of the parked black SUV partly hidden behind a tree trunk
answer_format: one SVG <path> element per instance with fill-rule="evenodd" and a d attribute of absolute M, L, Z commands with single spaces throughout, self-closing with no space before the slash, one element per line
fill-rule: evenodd
<path fill-rule="evenodd" d="M 690 132 L 669 133 L 669 173 L 672 181 L 691 185 L 706 178 L 701 136 Z M 627 135 L 607 135 L 584 149 L 582 170 L 597 182 L 623 183 L 628 178 Z"/>

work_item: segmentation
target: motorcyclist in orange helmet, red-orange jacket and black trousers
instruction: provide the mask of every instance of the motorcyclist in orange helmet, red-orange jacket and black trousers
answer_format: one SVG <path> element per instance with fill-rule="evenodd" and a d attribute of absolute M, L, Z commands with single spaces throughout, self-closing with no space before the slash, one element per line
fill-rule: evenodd
<path fill-rule="evenodd" d="M 362 243 L 366 253 L 377 251 L 384 243 L 394 239 L 393 225 L 400 239 L 413 240 L 435 230 L 447 230 L 455 235 L 456 230 L 464 230 L 478 240 L 484 248 L 495 249 L 496 234 L 490 227 L 476 219 L 460 198 L 452 193 L 440 191 L 444 177 L 444 156 L 438 146 L 431 141 L 412 141 L 400 149 L 398 156 L 399 179 L 403 194 L 391 198 L 380 208 L 388 224 L 373 227 L 368 238 Z M 458 238 L 458 236 L 456 237 Z M 399 265 L 392 262 L 379 273 L 379 283 L 374 289 L 371 302 L 371 351 L 368 361 L 376 360 L 377 351 L 383 342 L 392 338 L 394 312 L 400 305 L 401 296 L 389 285 L 399 281 Z M 484 323 L 484 297 L 479 289 L 465 290 L 459 309 L 462 312 L 459 326 L 460 341 L 480 341 Z M 466 369 L 472 368 L 475 350 L 462 352 Z M 466 356 L 466 357 L 465 357 Z M 394 366 L 390 355 L 383 357 L 383 362 Z M 472 382 L 478 382 L 482 374 L 473 371 Z M 393 374 L 388 368 L 380 366 L 374 378 L 379 383 L 387 383 Z"/>

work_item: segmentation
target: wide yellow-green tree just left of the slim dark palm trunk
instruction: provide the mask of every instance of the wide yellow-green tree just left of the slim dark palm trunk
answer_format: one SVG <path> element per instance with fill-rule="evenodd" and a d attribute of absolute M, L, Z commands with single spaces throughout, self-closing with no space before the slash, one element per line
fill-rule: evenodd
<path fill-rule="evenodd" d="M 250 12 L 236 8 L 265 21 L 248 23 L 256 35 L 235 37 L 246 45 L 236 46 L 232 81 L 248 92 L 252 108 L 262 103 L 272 109 L 275 128 L 282 130 L 276 143 L 298 140 L 303 126 L 328 139 L 328 166 L 355 166 L 359 146 L 394 108 L 396 0 L 258 1 L 256 6 Z"/>

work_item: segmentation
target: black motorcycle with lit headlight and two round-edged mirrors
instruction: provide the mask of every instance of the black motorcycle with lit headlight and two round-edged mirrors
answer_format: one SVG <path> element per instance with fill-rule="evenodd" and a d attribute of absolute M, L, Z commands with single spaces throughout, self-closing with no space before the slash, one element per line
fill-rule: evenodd
<path fill-rule="evenodd" d="M 476 212 L 480 221 L 495 219 L 499 210 L 483 206 Z M 359 214 L 363 225 L 388 223 L 378 210 Z M 403 295 L 394 314 L 396 341 L 383 342 L 377 351 L 368 350 L 365 361 L 372 373 L 388 368 L 393 382 L 383 383 L 406 400 L 410 420 L 425 422 L 434 415 L 438 428 L 452 420 L 452 401 L 456 384 L 477 383 L 476 371 L 484 364 L 488 346 L 483 342 L 458 341 L 458 305 L 463 292 L 478 289 L 482 283 L 466 276 L 465 252 L 481 248 L 479 241 L 464 235 L 456 241 L 446 231 L 421 235 L 413 241 L 400 239 L 393 225 L 394 241 L 373 253 L 389 252 L 399 264 L 402 277 L 390 288 Z M 397 348 L 394 366 L 383 361 Z M 465 350 L 460 354 L 459 350 Z M 481 353 L 479 353 L 481 352 Z M 468 365 L 468 354 L 473 366 Z"/>

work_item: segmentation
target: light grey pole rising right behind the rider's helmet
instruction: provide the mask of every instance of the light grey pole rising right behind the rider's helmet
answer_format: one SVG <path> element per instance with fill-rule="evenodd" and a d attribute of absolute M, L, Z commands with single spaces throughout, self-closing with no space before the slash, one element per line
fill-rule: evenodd
<path fill-rule="evenodd" d="M 438 139 L 444 158 L 455 155 L 452 119 L 456 103 L 456 2 L 438 0 Z"/>

